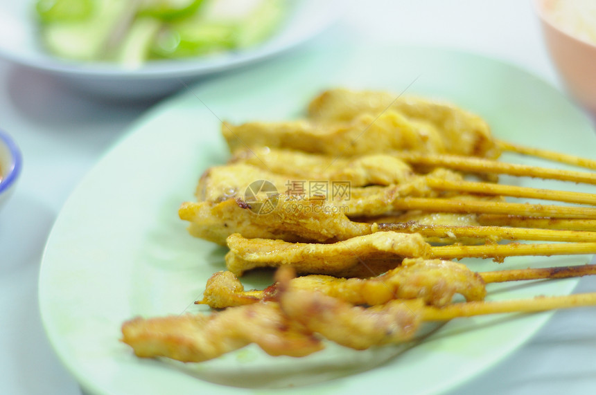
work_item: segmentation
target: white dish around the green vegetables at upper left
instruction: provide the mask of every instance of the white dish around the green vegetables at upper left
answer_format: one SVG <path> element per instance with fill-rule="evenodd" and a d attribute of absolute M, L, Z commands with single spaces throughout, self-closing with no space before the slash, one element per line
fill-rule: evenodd
<path fill-rule="evenodd" d="M 148 62 L 130 70 L 115 64 L 68 62 L 46 53 L 37 37 L 34 1 L 0 0 L 0 57 L 51 73 L 77 88 L 103 96 L 157 98 L 198 77 L 236 68 L 288 50 L 320 33 L 338 16 L 338 0 L 288 0 L 279 32 L 255 48 L 216 57 Z"/>

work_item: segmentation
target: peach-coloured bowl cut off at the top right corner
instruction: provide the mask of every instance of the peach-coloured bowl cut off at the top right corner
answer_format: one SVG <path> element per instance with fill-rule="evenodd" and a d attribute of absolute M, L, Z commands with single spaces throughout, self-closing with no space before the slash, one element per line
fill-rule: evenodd
<path fill-rule="evenodd" d="M 579 23 L 581 12 L 585 15 L 586 10 L 570 8 L 577 2 L 535 0 L 534 3 L 550 57 L 565 88 L 578 104 L 596 113 L 596 23 L 593 26 Z M 561 15 L 561 7 L 570 9 Z M 586 28 L 592 30 L 592 37 L 586 34 Z"/>

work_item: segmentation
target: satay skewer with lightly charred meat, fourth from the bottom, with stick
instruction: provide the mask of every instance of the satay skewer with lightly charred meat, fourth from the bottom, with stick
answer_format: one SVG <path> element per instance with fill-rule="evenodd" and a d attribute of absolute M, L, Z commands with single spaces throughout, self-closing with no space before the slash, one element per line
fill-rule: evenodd
<path fill-rule="evenodd" d="M 447 201 L 444 200 L 443 203 L 445 202 Z M 298 203 L 301 205 L 300 210 L 295 207 Z M 482 204 L 487 205 L 487 202 Z M 247 203 L 238 199 L 227 199 L 220 203 L 184 203 L 179 210 L 179 215 L 180 218 L 191 222 L 189 231 L 192 235 L 222 245 L 225 245 L 227 237 L 234 233 L 250 239 L 330 243 L 383 230 L 421 232 L 428 237 L 453 238 L 453 235 L 468 239 L 486 237 L 491 241 L 501 239 L 596 241 L 593 239 L 594 233 L 588 232 L 588 230 L 596 230 L 596 221 L 591 219 L 531 219 L 480 214 L 477 216 L 477 222 L 474 218 L 469 222 L 473 225 L 481 223 L 482 226 L 431 227 L 407 221 L 401 217 L 357 218 L 358 221 L 353 221 L 340 210 L 334 210 L 335 208 L 335 205 L 326 201 L 292 201 L 280 195 L 278 207 L 270 214 L 255 214 L 254 211 L 249 210 Z M 309 215 L 306 216 L 304 212 L 308 212 Z M 363 220 L 369 222 L 359 222 Z M 503 226 L 490 226 L 491 223 Z M 483 226 L 489 227 L 483 228 Z M 507 226 L 522 226 L 527 229 L 516 230 Z M 577 233 L 566 228 L 586 232 Z M 545 230 L 548 231 L 545 232 Z"/>

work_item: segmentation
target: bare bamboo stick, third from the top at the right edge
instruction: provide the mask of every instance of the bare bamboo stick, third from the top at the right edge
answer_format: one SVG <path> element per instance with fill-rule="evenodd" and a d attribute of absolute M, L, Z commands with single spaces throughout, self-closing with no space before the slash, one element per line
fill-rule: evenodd
<path fill-rule="evenodd" d="M 542 199 L 596 205 L 596 194 L 545 190 L 532 187 L 518 187 L 496 183 L 474 183 L 469 181 L 449 181 L 441 178 L 428 178 L 426 185 L 434 190 L 471 192 L 477 194 L 511 196 L 527 199 Z"/>

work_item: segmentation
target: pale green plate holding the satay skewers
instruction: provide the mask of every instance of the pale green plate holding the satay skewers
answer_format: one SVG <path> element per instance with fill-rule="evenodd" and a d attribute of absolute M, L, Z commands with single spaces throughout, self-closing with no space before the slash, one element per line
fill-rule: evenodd
<path fill-rule="evenodd" d="M 123 321 L 200 311 L 207 278 L 225 250 L 193 239 L 177 217 L 200 174 L 227 158 L 220 120 L 284 120 L 335 86 L 450 100 L 480 114 L 498 138 L 595 157 L 587 118 L 551 86 L 509 64 L 432 48 L 302 50 L 193 87 L 149 111 L 100 160 L 64 205 L 40 275 L 42 320 L 51 344 L 82 387 L 98 394 L 399 391 L 438 394 L 520 347 L 550 317 L 495 315 L 453 320 L 414 345 L 353 351 L 329 347 L 307 358 L 273 358 L 247 347 L 182 365 L 141 360 L 119 342 Z M 366 138 L 363 136 L 363 138 Z M 531 158 L 505 157 L 545 165 Z M 562 166 L 561 166 L 562 167 Z M 592 190 L 505 178 L 518 185 Z M 474 270 L 584 264 L 590 257 L 468 261 Z M 247 286 L 267 279 L 249 276 Z M 489 286 L 491 300 L 567 294 L 575 279 Z"/>

